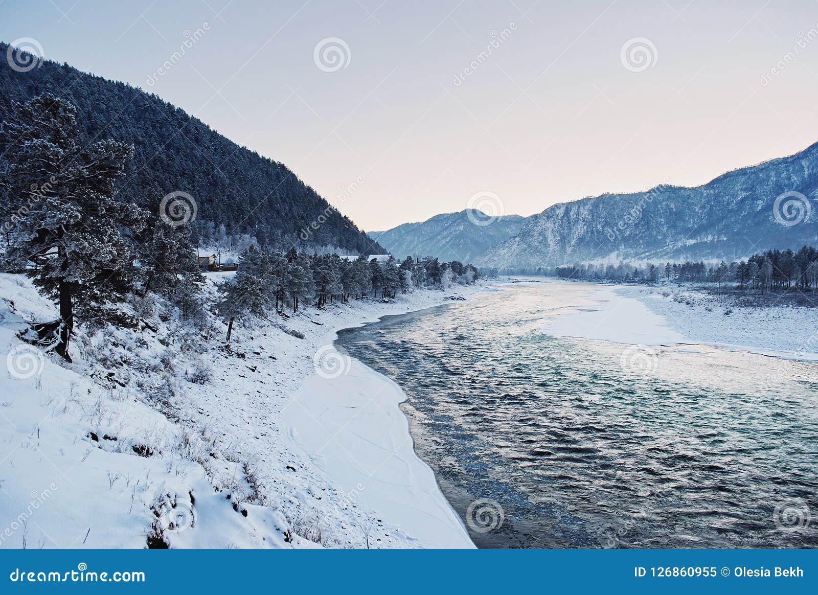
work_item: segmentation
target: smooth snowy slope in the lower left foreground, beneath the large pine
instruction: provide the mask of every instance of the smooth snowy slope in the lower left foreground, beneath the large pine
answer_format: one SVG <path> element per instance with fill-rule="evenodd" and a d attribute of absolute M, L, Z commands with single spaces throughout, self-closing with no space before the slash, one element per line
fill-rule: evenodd
<path fill-rule="evenodd" d="M 54 315 L 29 281 L 0 275 L 0 547 L 144 548 L 155 523 L 173 547 L 312 547 L 281 514 L 231 500 L 208 474 L 235 474 L 213 459 L 208 471 L 178 451 L 182 428 L 128 392 L 106 391 L 20 342 L 20 314 Z M 150 449 L 150 456 L 136 450 Z M 195 494 L 195 509 L 187 510 Z M 174 507 L 173 504 L 177 506 Z M 160 517 L 155 515 L 160 512 Z"/>

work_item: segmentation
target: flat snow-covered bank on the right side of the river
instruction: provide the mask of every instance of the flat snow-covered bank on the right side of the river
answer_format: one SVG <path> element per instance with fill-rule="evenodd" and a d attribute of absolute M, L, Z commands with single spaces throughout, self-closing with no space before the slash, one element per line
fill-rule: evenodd
<path fill-rule="evenodd" d="M 567 284 L 585 289 L 582 304 L 543 331 L 625 344 L 707 344 L 795 360 L 818 360 L 818 310 L 740 307 L 694 289 Z"/>

